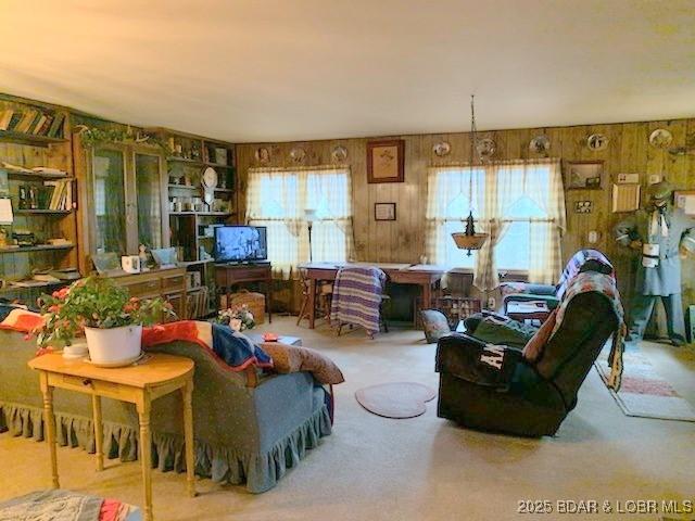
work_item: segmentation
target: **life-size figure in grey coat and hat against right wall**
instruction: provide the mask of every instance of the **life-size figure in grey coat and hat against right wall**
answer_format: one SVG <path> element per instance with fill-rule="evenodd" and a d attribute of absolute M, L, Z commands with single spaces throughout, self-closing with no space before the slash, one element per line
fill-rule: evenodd
<path fill-rule="evenodd" d="M 648 193 L 647 206 L 616 227 L 616 241 L 642 254 L 630 306 L 630 335 L 633 340 L 642 339 L 654 304 L 661 298 L 671 343 L 683 345 L 681 258 L 695 252 L 695 219 L 673 207 L 673 189 L 668 182 L 652 185 Z"/>

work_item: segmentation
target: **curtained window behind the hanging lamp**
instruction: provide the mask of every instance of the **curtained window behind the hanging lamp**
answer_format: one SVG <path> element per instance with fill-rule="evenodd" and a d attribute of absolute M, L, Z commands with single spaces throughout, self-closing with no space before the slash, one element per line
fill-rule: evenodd
<path fill-rule="evenodd" d="M 451 234 L 464 230 L 471 209 L 477 228 L 490 237 L 479 252 L 467 256 Z M 565 228 L 559 163 L 545 160 L 472 169 L 431 168 L 427 223 L 431 262 L 473 268 L 476 285 L 481 289 L 497 285 L 498 270 L 523 270 L 534 281 L 553 282 L 559 275 L 559 241 Z"/>

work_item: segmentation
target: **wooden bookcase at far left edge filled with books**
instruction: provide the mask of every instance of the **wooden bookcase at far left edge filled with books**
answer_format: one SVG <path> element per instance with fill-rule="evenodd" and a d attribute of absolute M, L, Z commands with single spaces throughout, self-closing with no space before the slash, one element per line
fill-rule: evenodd
<path fill-rule="evenodd" d="M 7 170 L 8 188 L 12 200 L 14 221 L 4 226 L 9 239 L 13 232 L 34 233 L 36 244 L 20 249 L 0 249 L 0 279 L 5 282 L 28 279 L 37 271 L 48 269 L 77 268 L 78 239 L 77 218 L 74 205 L 64 209 L 49 209 L 48 200 L 36 196 L 23 198 L 27 193 L 47 193 L 46 182 L 65 180 L 73 203 L 77 201 L 71 147 L 71 115 L 62 106 L 41 103 L 7 94 L 0 94 L 0 120 L 9 112 L 14 114 L 10 129 L 0 129 L 0 168 Z M 21 114 L 22 116 L 17 116 Z M 25 119 L 23 125 L 22 119 Z M 31 120 L 29 120 L 31 119 Z M 41 125 L 43 120 L 43 125 Z M 49 122 L 46 124 L 46 122 Z M 51 129 L 51 122 L 56 125 Z M 5 125 L 7 122 L 5 122 Z M 20 131 L 22 130 L 22 131 Z M 66 175 L 24 171 L 8 165 L 31 169 L 43 166 L 58 168 Z M 64 239 L 63 244 L 50 244 L 50 239 Z M 47 291 L 50 284 L 40 288 L 5 288 L 1 296 L 22 297 L 23 293 Z"/>

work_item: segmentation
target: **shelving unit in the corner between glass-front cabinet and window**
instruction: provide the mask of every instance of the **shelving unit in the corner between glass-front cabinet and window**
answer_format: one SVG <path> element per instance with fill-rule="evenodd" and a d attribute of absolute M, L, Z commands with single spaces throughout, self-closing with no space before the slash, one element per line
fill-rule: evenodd
<path fill-rule="evenodd" d="M 174 131 L 165 128 L 147 129 L 167 143 L 168 218 L 172 246 L 189 274 L 198 272 L 200 284 L 190 284 L 189 309 L 191 318 L 200 318 L 217 309 L 214 262 L 214 239 L 211 227 L 237 221 L 238 188 L 235 145 L 225 141 Z M 214 201 L 204 204 L 201 176 L 204 169 L 217 174 L 217 186 L 211 190 Z M 207 232 L 205 230 L 208 230 Z M 204 298 L 200 298 L 203 296 Z"/>

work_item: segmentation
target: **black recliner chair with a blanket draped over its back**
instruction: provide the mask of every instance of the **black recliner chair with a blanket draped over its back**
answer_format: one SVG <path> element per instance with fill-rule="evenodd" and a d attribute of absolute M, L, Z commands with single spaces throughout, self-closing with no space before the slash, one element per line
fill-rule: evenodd
<path fill-rule="evenodd" d="M 438 415 L 483 431 L 555 434 L 611 335 L 610 358 L 619 366 L 622 315 L 615 279 L 581 272 L 568 282 L 553 319 L 528 334 L 523 347 L 495 341 L 491 330 L 486 338 L 475 332 L 443 336 L 435 361 Z"/>

